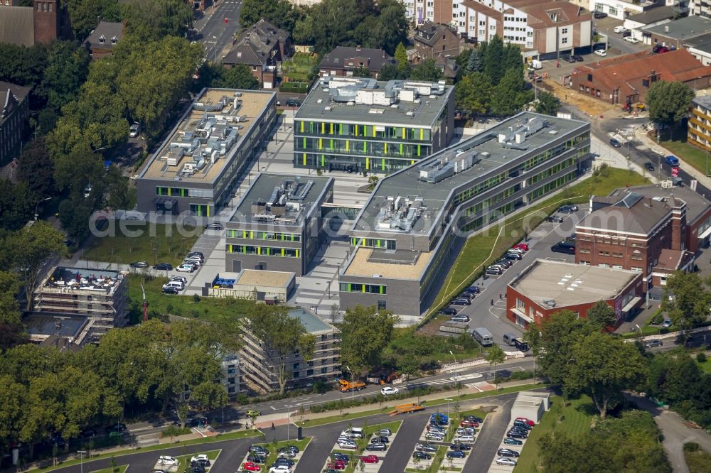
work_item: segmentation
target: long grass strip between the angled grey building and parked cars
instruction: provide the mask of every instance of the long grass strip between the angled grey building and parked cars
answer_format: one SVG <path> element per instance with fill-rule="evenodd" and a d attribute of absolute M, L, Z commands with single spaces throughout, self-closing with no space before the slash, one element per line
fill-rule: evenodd
<path fill-rule="evenodd" d="M 510 217 L 506 222 L 467 239 L 459 252 L 454 267 L 444 280 L 428 316 L 446 305 L 452 296 L 479 277 L 486 263 L 496 261 L 513 244 L 522 240 L 543 222 L 547 215 L 565 203 L 586 203 L 591 195 L 607 195 L 612 190 L 626 185 L 642 185 L 649 181 L 638 173 L 624 169 L 606 168 L 604 174 L 580 181 L 560 194 L 537 205 L 527 207 L 525 212 Z M 524 228 L 524 224 L 528 228 Z M 420 325 L 428 320 L 424 317 Z"/>

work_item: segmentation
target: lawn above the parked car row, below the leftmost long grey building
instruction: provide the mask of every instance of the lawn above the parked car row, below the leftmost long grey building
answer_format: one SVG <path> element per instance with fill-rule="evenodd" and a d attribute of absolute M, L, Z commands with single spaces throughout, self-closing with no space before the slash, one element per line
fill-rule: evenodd
<path fill-rule="evenodd" d="M 151 265 L 166 261 L 177 266 L 202 233 L 201 227 L 181 227 L 178 232 L 176 225 L 133 222 L 122 231 L 122 223 L 107 228 L 112 235 L 92 239 L 82 259 L 119 264 L 147 261 Z"/>

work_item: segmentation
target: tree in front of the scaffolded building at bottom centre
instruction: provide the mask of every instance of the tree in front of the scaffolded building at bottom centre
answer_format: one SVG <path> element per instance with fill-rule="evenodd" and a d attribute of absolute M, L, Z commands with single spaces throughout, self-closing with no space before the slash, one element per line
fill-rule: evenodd
<path fill-rule="evenodd" d="M 279 393 L 283 394 L 292 376 L 287 365 L 299 357 L 309 361 L 314 354 L 316 339 L 306 332 L 298 318 L 289 317 L 286 308 L 257 304 L 247 317 L 250 330 L 262 340 L 269 357 L 277 365 Z"/>

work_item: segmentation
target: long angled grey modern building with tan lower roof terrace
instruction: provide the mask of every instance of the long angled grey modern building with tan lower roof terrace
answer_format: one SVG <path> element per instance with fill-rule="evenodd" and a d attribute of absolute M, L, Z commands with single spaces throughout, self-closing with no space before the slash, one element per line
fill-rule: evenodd
<path fill-rule="evenodd" d="M 589 148 L 587 122 L 522 112 L 381 179 L 351 228 L 341 308 L 419 317 L 466 237 L 577 179 Z"/>

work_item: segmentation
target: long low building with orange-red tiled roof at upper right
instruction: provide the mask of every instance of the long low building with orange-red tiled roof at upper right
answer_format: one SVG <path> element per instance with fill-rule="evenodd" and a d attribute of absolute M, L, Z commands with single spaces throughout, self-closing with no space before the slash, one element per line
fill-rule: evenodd
<path fill-rule="evenodd" d="M 705 89 L 711 85 L 711 66 L 684 49 L 663 54 L 641 51 L 578 66 L 570 75 L 572 89 L 610 104 L 643 103 L 658 80 Z"/>

